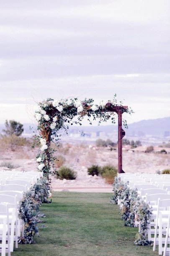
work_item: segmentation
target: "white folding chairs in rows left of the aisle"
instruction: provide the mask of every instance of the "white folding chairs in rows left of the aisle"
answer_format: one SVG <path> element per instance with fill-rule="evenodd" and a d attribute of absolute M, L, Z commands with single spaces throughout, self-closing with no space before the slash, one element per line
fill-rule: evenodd
<path fill-rule="evenodd" d="M 0 172 L 0 252 L 18 248 L 18 237 L 23 236 L 24 223 L 18 216 L 19 202 L 42 176 L 41 172 Z"/>

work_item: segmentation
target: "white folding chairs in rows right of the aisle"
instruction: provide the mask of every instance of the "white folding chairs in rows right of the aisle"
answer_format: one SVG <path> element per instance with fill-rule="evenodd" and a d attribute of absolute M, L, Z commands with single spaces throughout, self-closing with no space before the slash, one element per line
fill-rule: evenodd
<path fill-rule="evenodd" d="M 152 221 L 148 226 L 148 240 L 153 241 L 153 251 L 158 245 L 159 255 L 170 253 L 170 175 L 169 174 L 119 174 L 129 187 L 152 208 Z M 140 223 L 135 222 L 139 225 Z M 164 246 L 165 245 L 165 246 Z"/>

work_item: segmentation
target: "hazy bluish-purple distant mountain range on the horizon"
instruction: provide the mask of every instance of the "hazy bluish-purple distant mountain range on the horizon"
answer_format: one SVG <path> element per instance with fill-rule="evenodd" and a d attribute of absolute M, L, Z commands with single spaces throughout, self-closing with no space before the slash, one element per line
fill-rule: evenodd
<path fill-rule="evenodd" d="M 30 129 L 30 127 L 32 129 Z M 0 132 L 4 129 L 4 124 L 0 124 Z M 105 132 L 112 133 L 117 129 L 117 125 L 100 125 L 100 126 L 82 126 L 82 127 L 70 127 L 69 133 L 78 132 Z M 31 134 L 36 131 L 36 126 L 32 124 L 24 124 L 24 133 Z M 126 129 L 126 135 L 153 135 L 153 136 L 164 136 L 170 134 L 170 117 L 159 118 L 159 119 L 148 119 L 138 121 L 128 125 Z"/>

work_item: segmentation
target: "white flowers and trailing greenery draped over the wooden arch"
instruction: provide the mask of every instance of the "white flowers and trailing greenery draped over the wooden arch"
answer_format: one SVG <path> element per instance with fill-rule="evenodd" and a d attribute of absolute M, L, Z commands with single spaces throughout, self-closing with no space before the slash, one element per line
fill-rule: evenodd
<path fill-rule="evenodd" d="M 101 101 L 95 104 L 93 99 L 78 100 L 77 98 L 54 100 L 48 98 L 39 103 L 39 109 L 35 112 L 35 118 L 38 121 L 38 140 L 40 142 L 40 150 L 36 161 L 39 171 L 49 179 L 49 174 L 56 173 L 54 168 L 54 149 L 51 148 L 51 141 L 56 143 L 59 140 L 59 129 L 67 129 L 72 124 L 80 124 L 84 116 L 88 117 L 88 121 L 92 124 L 93 120 L 99 119 L 101 122 L 111 120 L 115 124 L 115 112 L 109 112 L 113 106 L 122 106 L 122 102 L 117 102 L 116 95 L 113 100 Z M 123 112 L 132 113 L 131 109 L 123 109 Z M 77 116 L 77 120 L 74 117 Z M 127 127 L 126 120 L 123 124 Z"/>

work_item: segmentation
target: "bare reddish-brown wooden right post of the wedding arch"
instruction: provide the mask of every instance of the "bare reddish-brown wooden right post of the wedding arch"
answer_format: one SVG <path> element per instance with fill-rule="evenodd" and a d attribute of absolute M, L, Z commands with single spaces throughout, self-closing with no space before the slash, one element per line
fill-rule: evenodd
<path fill-rule="evenodd" d="M 122 169 L 122 138 L 125 131 L 122 129 L 122 110 L 118 110 L 118 173 L 124 173 Z"/>

